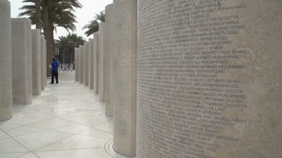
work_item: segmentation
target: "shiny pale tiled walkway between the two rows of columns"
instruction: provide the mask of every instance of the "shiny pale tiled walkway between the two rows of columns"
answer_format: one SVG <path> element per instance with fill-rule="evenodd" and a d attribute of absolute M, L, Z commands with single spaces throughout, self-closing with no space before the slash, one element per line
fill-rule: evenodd
<path fill-rule="evenodd" d="M 61 73 L 31 105 L 14 105 L 14 117 L 0 123 L 1 158 L 111 158 L 112 120 L 89 88 Z"/>

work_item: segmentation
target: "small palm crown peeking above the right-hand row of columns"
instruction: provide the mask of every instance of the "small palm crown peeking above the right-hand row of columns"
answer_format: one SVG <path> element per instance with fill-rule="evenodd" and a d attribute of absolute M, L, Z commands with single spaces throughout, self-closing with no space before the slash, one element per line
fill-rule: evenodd
<path fill-rule="evenodd" d="M 91 20 L 87 25 L 82 27 L 82 29 L 87 29 L 85 34 L 89 37 L 94 32 L 99 31 L 99 22 L 105 22 L 105 12 L 100 11 L 100 13 L 95 14 L 94 20 Z"/>

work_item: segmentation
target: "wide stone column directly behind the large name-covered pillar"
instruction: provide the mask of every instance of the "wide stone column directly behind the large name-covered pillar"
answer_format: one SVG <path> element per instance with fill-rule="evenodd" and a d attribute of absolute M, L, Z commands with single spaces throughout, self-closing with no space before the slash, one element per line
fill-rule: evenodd
<path fill-rule="evenodd" d="M 136 154 L 137 0 L 114 0 L 114 150 Z"/>

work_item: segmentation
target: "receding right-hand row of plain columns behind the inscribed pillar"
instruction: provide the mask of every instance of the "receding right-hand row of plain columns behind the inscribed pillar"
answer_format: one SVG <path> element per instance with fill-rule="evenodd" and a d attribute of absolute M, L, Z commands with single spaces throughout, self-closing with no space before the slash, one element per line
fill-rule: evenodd
<path fill-rule="evenodd" d="M 135 157 L 137 1 L 114 1 L 105 11 L 99 32 L 75 48 L 75 81 L 94 89 L 114 118 L 114 150 Z"/>

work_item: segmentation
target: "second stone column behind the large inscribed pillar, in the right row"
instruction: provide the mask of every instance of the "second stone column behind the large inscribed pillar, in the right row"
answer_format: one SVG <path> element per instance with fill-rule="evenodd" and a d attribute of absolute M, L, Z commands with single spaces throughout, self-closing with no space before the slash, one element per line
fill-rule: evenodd
<path fill-rule="evenodd" d="M 113 117 L 113 4 L 105 9 L 105 114 Z"/>

